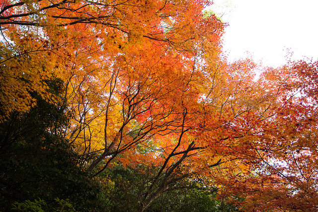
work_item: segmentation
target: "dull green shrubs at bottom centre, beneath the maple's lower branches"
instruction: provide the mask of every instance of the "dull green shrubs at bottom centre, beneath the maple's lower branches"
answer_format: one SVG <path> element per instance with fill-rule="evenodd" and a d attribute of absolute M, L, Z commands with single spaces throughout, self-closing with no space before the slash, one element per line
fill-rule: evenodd
<path fill-rule="evenodd" d="M 147 170 L 146 170 L 147 169 Z M 105 210 L 110 212 L 134 212 L 138 210 L 141 198 L 149 189 L 157 167 L 137 168 L 117 165 L 105 172 Z M 147 173 L 147 174 L 143 174 Z M 218 189 L 207 187 L 208 179 L 196 176 L 192 180 L 182 180 L 170 184 L 169 188 L 149 206 L 147 212 L 234 212 L 238 208 L 218 200 Z M 211 184 L 211 183 L 210 183 Z"/>

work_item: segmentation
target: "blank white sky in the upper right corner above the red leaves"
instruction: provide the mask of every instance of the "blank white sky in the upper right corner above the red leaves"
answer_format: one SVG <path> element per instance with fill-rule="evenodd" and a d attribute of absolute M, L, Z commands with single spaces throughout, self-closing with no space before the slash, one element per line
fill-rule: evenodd
<path fill-rule="evenodd" d="M 229 23 L 224 50 L 230 60 L 249 52 L 264 65 L 278 66 L 285 63 L 286 49 L 294 59 L 318 59 L 318 0 L 231 0 L 231 6 L 213 1 L 211 9 L 225 13 Z"/>

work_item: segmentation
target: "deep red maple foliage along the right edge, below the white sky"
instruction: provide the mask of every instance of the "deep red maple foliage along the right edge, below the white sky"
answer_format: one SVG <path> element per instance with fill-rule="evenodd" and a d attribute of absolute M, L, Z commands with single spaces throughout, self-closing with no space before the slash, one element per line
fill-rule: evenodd
<path fill-rule="evenodd" d="M 227 195 L 231 191 L 245 198 L 243 205 L 248 211 L 317 211 L 317 148 L 313 137 L 317 67 L 313 61 L 291 61 L 263 70 L 255 80 L 257 87 L 245 84 L 239 89 L 255 95 L 258 102 L 244 100 L 247 110 L 243 119 L 228 123 L 231 135 L 216 142 L 228 149 L 226 158 L 245 166 L 238 170 L 221 165 L 227 177 L 213 175 L 227 189 Z M 229 100 L 233 102 L 233 98 Z M 227 115 L 239 111 L 234 106 L 230 109 Z M 212 135 L 205 136 L 212 139 Z"/>

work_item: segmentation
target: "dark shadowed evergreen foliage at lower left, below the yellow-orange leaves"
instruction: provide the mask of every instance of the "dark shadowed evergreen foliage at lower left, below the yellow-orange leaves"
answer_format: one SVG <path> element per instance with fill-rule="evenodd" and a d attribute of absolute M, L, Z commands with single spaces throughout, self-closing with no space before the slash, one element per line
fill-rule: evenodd
<path fill-rule="evenodd" d="M 61 80 L 47 83 L 48 92 L 57 96 L 64 92 Z M 70 199 L 80 209 L 96 197 L 97 187 L 63 138 L 69 112 L 62 101 L 52 105 L 35 93 L 32 96 L 37 106 L 13 112 L 0 124 L 0 209 L 8 211 L 13 202 L 38 198 L 48 208 L 60 198 Z"/>

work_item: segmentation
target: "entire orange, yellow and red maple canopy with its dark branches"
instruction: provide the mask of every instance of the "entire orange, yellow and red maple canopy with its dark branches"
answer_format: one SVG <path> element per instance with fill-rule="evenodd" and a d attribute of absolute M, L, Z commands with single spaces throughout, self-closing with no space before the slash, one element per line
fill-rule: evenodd
<path fill-rule="evenodd" d="M 251 59 L 227 62 L 208 4 L 2 1 L 0 122 L 39 99 L 66 104 L 70 124 L 47 132 L 110 187 L 104 173 L 118 165 L 147 176 L 139 212 L 202 176 L 249 211 L 317 210 L 317 62 L 259 77 Z M 56 76 L 63 95 L 50 90 Z"/>

